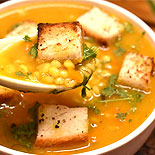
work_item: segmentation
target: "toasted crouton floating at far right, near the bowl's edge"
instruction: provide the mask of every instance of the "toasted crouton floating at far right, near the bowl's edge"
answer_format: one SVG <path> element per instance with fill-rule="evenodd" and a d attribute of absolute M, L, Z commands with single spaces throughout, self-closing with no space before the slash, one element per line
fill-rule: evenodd
<path fill-rule="evenodd" d="M 148 91 L 153 67 L 152 57 L 128 53 L 120 70 L 118 83 Z"/>

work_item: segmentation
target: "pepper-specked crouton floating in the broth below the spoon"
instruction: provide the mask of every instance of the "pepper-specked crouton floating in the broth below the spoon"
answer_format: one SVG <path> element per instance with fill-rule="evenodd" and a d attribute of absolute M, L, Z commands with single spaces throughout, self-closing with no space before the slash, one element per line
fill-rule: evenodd
<path fill-rule="evenodd" d="M 36 147 L 60 147 L 88 141 L 88 109 L 41 105 L 38 109 Z"/>

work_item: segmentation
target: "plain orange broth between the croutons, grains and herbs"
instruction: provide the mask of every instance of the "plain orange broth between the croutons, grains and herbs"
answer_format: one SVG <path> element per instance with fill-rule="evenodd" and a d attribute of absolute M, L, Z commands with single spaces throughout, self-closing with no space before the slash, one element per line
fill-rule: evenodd
<path fill-rule="evenodd" d="M 9 10 L 5 13 L 0 14 L 0 35 L 4 37 L 10 27 L 16 24 L 19 21 L 24 20 L 33 20 L 35 22 L 45 22 L 45 23 L 56 23 L 64 21 L 75 21 L 77 17 L 85 13 L 91 8 L 91 6 L 83 4 L 65 4 L 65 3 L 54 3 L 54 4 L 35 4 L 27 5 L 14 10 Z M 126 49 L 127 52 L 136 52 L 155 57 L 155 49 L 151 46 L 149 41 L 145 36 L 142 36 L 142 32 L 136 27 L 133 27 L 134 33 L 124 32 L 122 34 L 122 40 L 120 45 Z M 20 44 L 19 48 L 11 49 L 5 53 L 0 54 L 0 65 L 12 63 L 16 58 L 24 59 L 27 63 L 33 64 L 31 58 L 28 56 L 28 51 L 26 48 L 30 48 L 31 43 L 23 42 Z M 131 48 L 131 45 L 136 46 L 136 50 Z M 100 48 L 97 58 L 101 58 L 104 55 L 110 56 L 111 62 L 105 66 L 111 74 L 118 74 L 121 68 L 124 55 L 115 56 L 113 50 L 116 49 L 116 46 L 113 44 L 109 48 L 102 49 Z M 4 59 L 4 57 L 6 59 Z M 5 72 L 1 73 L 3 75 Z M 15 76 L 12 76 L 17 78 Z M 93 87 L 99 85 L 95 80 L 95 75 L 89 81 L 89 86 Z M 103 78 L 103 86 L 100 86 L 102 90 L 108 82 L 109 78 Z M 86 152 L 94 149 L 98 149 L 109 144 L 112 144 L 123 137 L 130 134 L 138 126 L 140 126 L 150 115 L 150 113 L 155 108 L 155 79 L 151 79 L 151 91 L 145 95 L 143 100 L 140 103 L 137 103 L 137 110 L 135 113 L 130 112 L 124 121 L 120 121 L 116 118 L 116 113 L 127 112 L 131 108 L 131 104 L 128 101 L 121 102 L 110 102 L 110 103 L 98 103 L 96 106 L 100 109 L 100 113 L 96 114 L 93 110 L 89 110 L 89 142 L 84 144 L 83 147 L 75 146 L 75 150 L 71 148 L 66 149 L 66 151 L 60 151 L 61 154 L 69 153 L 80 153 Z M 62 94 L 52 95 L 52 94 L 30 94 L 30 93 L 20 93 L 20 96 L 14 97 L 11 100 L 4 100 L 1 102 L 1 109 L 8 109 L 7 117 L 0 117 L 0 144 L 14 150 L 19 150 L 29 153 L 46 153 L 49 154 L 59 154 L 54 153 L 51 149 L 42 150 L 42 149 L 27 149 L 26 147 L 19 144 L 16 141 L 10 132 L 10 125 L 15 124 L 24 124 L 30 121 L 30 117 L 27 114 L 28 108 L 32 107 L 36 101 L 40 104 L 63 104 L 69 107 L 76 106 L 87 106 L 88 104 L 93 104 L 96 100 L 100 100 L 101 95 L 95 94 L 92 92 L 91 97 L 82 98 L 81 97 L 81 88 L 71 90 Z M 120 109 L 120 110 L 119 110 Z M 130 122 L 129 120 L 132 119 Z M 34 139 L 32 140 L 34 141 Z M 50 152 L 51 151 L 51 152 Z"/>

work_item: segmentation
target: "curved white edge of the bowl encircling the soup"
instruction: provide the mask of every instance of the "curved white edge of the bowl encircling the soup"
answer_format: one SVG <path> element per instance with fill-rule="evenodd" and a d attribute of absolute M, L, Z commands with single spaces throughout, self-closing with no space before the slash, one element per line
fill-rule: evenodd
<path fill-rule="evenodd" d="M 44 0 L 44 1 L 45 2 L 53 2 L 54 0 Z M 69 0 L 57 0 L 57 1 L 68 1 L 69 2 Z M 12 1 L 6 2 L 4 4 L 1 4 L 0 10 L 4 11 L 7 9 L 12 9 L 12 8 L 18 7 L 20 5 L 25 5 L 28 3 L 38 3 L 38 2 L 42 2 L 42 0 L 37 0 L 37 1 L 36 0 L 28 0 L 28 1 L 12 0 Z M 139 19 L 137 16 L 130 13 L 129 11 L 127 11 L 127 10 L 125 10 L 125 9 L 115 5 L 115 4 L 112 4 L 112 3 L 107 2 L 107 1 L 102 1 L 102 0 L 98 0 L 98 1 L 95 1 L 95 0 L 78 0 L 78 1 L 72 0 L 71 2 L 88 3 L 88 4 L 93 5 L 93 6 L 98 6 L 98 7 L 104 8 L 104 10 L 112 12 L 112 13 L 114 13 L 114 14 L 116 14 L 116 15 L 118 15 L 118 16 L 126 19 L 126 20 L 131 21 L 133 24 L 135 24 L 137 27 L 139 27 L 142 31 L 146 32 L 148 40 L 155 47 L 155 37 L 154 37 L 155 34 L 154 34 L 154 32 L 141 19 Z M 110 144 L 108 146 L 105 146 L 103 148 L 100 148 L 100 149 L 97 149 L 94 151 L 87 152 L 85 154 L 106 153 L 108 151 L 114 150 L 114 149 L 122 146 L 123 144 L 134 139 L 136 136 L 138 136 L 140 133 L 142 133 L 151 123 L 153 123 L 153 121 L 155 119 L 154 116 L 155 116 L 155 109 L 151 113 L 151 115 L 146 119 L 146 121 L 143 124 L 141 124 L 135 131 L 133 131 L 128 136 L 124 137 L 123 139 L 121 139 L 121 140 L 119 140 L 113 144 Z M 19 154 L 18 151 L 8 149 L 8 148 L 3 147 L 3 146 L 0 146 L 0 150 L 2 152 L 6 152 L 9 154 Z M 20 154 L 27 154 L 27 153 L 21 153 L 20 152 Z"/>

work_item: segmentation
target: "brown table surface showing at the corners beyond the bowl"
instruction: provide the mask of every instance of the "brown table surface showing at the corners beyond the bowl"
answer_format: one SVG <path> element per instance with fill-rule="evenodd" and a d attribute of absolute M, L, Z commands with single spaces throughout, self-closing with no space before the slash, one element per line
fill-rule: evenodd
<path fill-rule="evenodd" d="M 0 0 L 0 3 L 7 0 Z M 133 12 L 143 19 L 155 31 L 155 14 L 147 4 L 147 0 L 108 0 Z M 135 155 L 155 155 L 155 130 Z"/>

